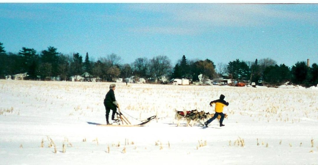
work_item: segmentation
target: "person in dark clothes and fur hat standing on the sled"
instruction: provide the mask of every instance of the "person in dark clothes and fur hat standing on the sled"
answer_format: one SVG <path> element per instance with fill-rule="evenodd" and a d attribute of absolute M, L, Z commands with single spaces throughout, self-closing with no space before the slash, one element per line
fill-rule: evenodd
<path fill-rule="evenodd" d="M 112 120 L 118 120 L 118 119 L 114 119 L 116 111 L 117 111 L 117 107 L 118 107 L 118 103 L 116 101 L 115 93 L 114 93 L 115 88 L 116 88 L 116 84 L 111 84 L 109 86 L 109 91 L 107 92 L 107 94 L 105 96 L 105 99 L 104 99 L 104 106 L 105 106 L 105 109 L 106 109 L 106 122 L 107 122 L 107 124 L 110 124 L 109 120 L 108 120 L 110 110 L 113 111 Z"/>

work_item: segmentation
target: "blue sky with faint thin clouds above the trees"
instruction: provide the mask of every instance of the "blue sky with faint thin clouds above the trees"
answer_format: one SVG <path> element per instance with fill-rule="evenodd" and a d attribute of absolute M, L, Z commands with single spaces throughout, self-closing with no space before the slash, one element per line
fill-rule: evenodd
<path fill-rule="evenodd" d="M 13 53 L 318 63 L 318 4 L 0 3 L 0 13 L 0 42 Z"/>

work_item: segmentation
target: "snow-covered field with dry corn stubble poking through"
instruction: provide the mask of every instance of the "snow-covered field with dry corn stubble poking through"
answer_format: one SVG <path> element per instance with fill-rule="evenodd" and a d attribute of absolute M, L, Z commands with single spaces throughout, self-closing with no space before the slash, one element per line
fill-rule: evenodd
<path fill-rule="evenodd" d="M 158 119 L 97 127 L 109 84 L 0 80 L 0 164 L 318 164 L 316 88 L 117 83 L 132 124 Z M 225 127 L 176 127 L 174 109 L 212 113 L 220 94 Z"/>

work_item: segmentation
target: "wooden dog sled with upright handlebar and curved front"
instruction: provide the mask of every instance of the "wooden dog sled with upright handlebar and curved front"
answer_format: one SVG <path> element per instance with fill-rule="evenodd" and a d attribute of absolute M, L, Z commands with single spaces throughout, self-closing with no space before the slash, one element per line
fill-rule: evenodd
<path fill-rule="evenodd" d="M 151 120 L 156 119 L 155 116 L 151 116 L 145 120 L 142 120 L 140 124 L 132 125 L 129 120 L 121 113 L 120 109 L 118 109 L 119 112 L 116 112 L 117 119 L 114 121 L 113 124 L 98 124 L 97 126 L 104 126 L 104 127 L 142 127 L 145 124 L 149 123 Z M 124 124 L 125 123 L 125 124 Z"/>

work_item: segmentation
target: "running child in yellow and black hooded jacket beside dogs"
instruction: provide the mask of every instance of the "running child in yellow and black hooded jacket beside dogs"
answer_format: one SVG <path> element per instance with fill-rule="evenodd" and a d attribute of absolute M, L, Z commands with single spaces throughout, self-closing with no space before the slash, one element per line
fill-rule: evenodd
<path fill-rule="evenodd" d="M 215 104 L 215 114 L 214 116 L 209 119 L 208 121 L 204 122 L 205 127 L 208 127 L 208 124 L 210 124 L 214 119 L 218 117 L 218 115 L 221 116 L 220 119 L 220 127 L 223 127 L 223 120 L 224 120 L 224 113 L 223 113 L 223 107 L 228 106 L 229 103 L 224 100 L 225 96 L 223 94 L 220 95 L 220 99 L 214 100 L 210 102 L 210 106 Z"/>

